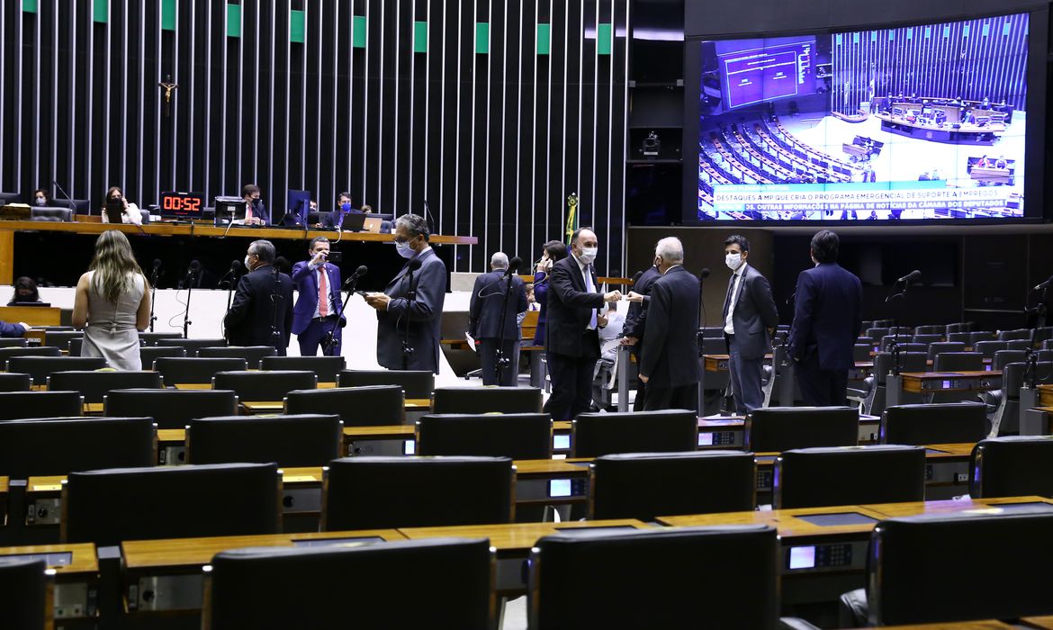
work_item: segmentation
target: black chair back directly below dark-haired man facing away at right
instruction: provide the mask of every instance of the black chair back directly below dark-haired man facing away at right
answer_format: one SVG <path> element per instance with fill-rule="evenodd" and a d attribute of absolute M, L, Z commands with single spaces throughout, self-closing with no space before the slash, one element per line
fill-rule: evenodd
<path fill-rule="evenodd" d="M 748 451 L 774 452 L 813 447 L 854 447 L 859 410 L 851 407 L 769 407 L 746 416 Z"/>

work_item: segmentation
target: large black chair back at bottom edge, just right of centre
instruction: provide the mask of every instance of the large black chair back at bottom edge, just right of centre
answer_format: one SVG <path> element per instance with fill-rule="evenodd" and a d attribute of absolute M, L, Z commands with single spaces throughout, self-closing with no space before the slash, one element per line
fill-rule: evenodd
<path fill-rule="evenodd" d="M 778 555 L 766 525 L 564 530 L 531 552 L 530 628 L 775 628 Z"/>

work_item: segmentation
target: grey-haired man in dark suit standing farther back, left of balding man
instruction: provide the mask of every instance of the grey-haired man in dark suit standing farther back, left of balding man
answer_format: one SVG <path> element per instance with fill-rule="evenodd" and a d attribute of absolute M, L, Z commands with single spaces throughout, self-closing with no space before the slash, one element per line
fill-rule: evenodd
<path fill-rule="evenodd" d="M 519 326 L 517 316 L 526 312 L 526 290 L 522 278 L 512 274 L 512 291 L 509 294 L 508 307 L 504 304 L 504 292 L 509 288 L 509 257 L 503 252 L 497 252 L 490 257 L 491 272 L 475 279 L 472 288 L 472 298 L 469 301 L 469 333 L 479 343 L 479 359 L 482 362 L 482 385 L 500 385 L 514 387 L 518 366 L 512 362 L 516 347 L 519 346 Z M 501 315 L 504 319 L 501 319 Z M 501 330 L 503 329 L 503 333 Z M 506 359 L 500 367 L 498 377 L 497 350 L 498 341 L 501 356 Z"/>

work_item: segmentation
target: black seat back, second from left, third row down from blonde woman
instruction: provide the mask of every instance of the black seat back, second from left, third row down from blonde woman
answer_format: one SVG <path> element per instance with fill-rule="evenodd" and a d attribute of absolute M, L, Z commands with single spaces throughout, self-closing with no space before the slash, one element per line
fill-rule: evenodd
<path fill-rule="evenodd" d="M 238 413 L 238 397 L 230 390 L 111 390 L 104 402 L 107 416 L 151 415 L 158 429 Z"/>

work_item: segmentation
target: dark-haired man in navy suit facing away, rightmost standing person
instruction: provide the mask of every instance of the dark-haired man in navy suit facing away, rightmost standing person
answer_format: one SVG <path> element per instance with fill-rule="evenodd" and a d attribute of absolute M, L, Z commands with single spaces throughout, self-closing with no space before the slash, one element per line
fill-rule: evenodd
<path fill-rule="evenodd" d="M 790 329 L 790 357 L 804 405 L 846 403 L 853 346 L 859 334 L 862 283 L 837 264 L 840 241 L 823 230 L 812 237 L 815 267 L 797 276 L 797 304 Z"/>

